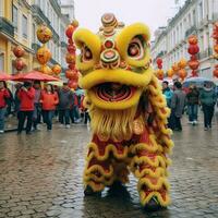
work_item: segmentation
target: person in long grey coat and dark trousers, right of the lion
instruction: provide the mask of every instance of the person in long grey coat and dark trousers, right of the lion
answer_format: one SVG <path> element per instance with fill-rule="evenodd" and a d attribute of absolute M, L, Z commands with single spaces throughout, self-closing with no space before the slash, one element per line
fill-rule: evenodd
<path fill-rule="evenodd" d="M 181 118 L 185 105 L 185 93 L 182 90 L 182 84 L 180 82 L 174 83 L 174 92 L 171 99 L 171 119 L 173 131 L 182 131 Z"/>

